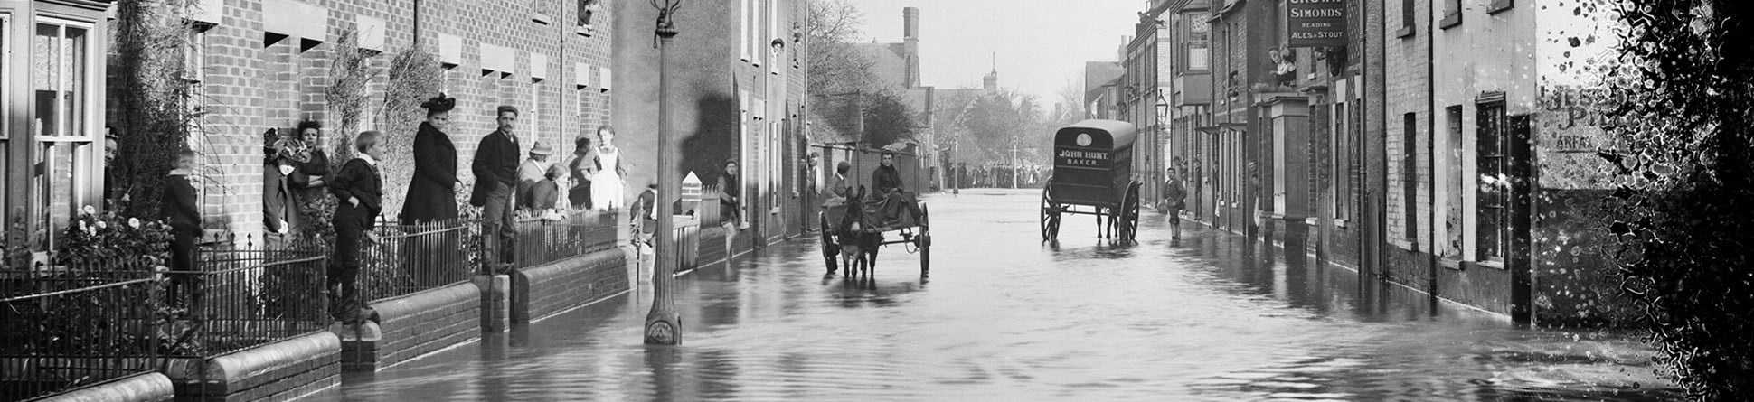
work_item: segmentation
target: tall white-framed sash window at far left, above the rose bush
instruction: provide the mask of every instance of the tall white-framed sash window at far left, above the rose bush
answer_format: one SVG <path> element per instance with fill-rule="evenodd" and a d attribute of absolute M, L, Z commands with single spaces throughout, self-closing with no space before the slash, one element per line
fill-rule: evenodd
<path fill-rule="evenodd" d="M 91 26 L 61 19 L 39 19 L 30 40 L 35 116 L 32 133 L 35 163 L 32 177 L 33 242 L 54 249 L 54 228 L 72 219 L 75 209 L 93 204 L 98 156 L 93 153 Z"/>

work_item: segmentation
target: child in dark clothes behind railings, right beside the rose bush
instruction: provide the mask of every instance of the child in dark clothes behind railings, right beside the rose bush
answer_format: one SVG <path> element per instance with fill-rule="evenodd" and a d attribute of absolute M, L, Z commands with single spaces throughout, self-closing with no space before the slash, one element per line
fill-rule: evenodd
<path fill-rule="evenodd" d="M 200 302 L 202 277 L 195 267 L 195 240 L 202 237 L 202 211 L 196 204 L 195 184 L 189 174 L 195 172 L 195 149 L 177 153 L 177 165 L 165 179 L 165 195 L 158 211 L 170 223 L 170 300 Z"/>

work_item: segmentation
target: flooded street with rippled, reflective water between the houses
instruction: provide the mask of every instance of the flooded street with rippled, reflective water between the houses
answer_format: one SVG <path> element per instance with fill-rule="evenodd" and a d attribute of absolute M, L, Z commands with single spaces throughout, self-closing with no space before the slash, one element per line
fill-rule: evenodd
<path fill-rule="evenodd" d="M 489 334 L 319 400 L 1668 400 L 1629 334 L 1508 318 L 1189 225 L 1140 242 L 1068 218 L 1040 244 L 1038 190 L 926 197 L 931 276 L 882 251 L 824 277 L 814 237 L 682 276 L 682 346 L 649 348 L 649 284 Z M 1184 223 L 1187 225 L 1187 223 Z"/>

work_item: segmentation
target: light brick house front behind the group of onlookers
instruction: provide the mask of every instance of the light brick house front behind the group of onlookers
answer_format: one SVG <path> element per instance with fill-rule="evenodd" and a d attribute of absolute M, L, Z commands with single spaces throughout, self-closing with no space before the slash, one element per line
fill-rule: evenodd
<path fill-rule="evenodd" d="M 324 146 L 386 125 L 382 105 L 393 54 L 421 49 L 444 68 L 442 91 L 458 98 L 451 112 L 460 176 L 479 139 L 495 130 L 495 107 L 523 111 L 521 146 L 553 144 L 567 158 L 577 135 L 610 118 L 612 12 L 586 2 L 365 2 L 365 0 L 203 0 L 186 16 L 186 77 L 202 111 L 189 146 L 202 158 L 202 211 L 210 230 L 261 232 L 263 130 L 324 125 Z M 344 46 L 368 58 L 365 112 L 353 126 L 337 116 L 328 91 Z M 121 88 L 111 88 L 121 90 Z M 118 126 L 118 130 L 128 130 Z M 410 158 L 409 144 L 388 144 L 386 163 Z M 621 144 L 628 146 L 628 144 Z M 526 151 L 524 149 L 524 151 Z M 333 149 L 332 149 L 333 153 Z M 410 177 L 386 174 L 386 212 L 400 211 Z"/>

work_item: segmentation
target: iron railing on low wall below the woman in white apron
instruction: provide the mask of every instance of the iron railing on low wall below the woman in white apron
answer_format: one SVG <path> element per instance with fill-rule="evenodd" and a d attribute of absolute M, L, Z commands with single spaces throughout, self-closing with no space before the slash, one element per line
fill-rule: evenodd
<path fill-rule="evenodd" d="M 617 240 L 616 212 L 582 211 L 560 221 L 528 219 L 517 223 L 512 244 L 514 267 L 528 269 L 614 249 Z"/>

